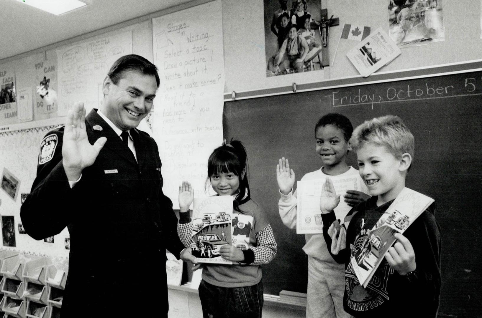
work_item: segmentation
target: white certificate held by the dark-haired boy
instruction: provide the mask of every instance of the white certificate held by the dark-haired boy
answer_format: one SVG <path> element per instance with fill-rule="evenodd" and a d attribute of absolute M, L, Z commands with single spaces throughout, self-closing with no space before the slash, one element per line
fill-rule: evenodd
<path fill-rule="evenodd" d="M 360 178 L 353 176 L 330 176 L 337 194 L 341 200 L 335 208 L 336 218 L 342 219 L 350 211 L 351 207 L 343 200 L 348 190 L 362 191 Z M 303 180 L 296 183 L 296 233 L 316 234 L 323 232 L 321 222 L 320 196 L 325 179 Z"/>

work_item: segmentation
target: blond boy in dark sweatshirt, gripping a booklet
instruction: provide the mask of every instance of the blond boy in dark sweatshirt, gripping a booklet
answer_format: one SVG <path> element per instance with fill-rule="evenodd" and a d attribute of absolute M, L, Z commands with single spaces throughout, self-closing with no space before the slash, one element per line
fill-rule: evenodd
<path fill-rule="evenodd" d="M 360 176 L 372 197 L 348 213 L 345 248 L 337 254 L 330 251 L 336 262 L 345 263 L 344 308 L 357 318 L 436 317 L 441 288 L 441 239 L 434 216 L 435 204 L 403 235 L 395 234 L 398 241 L 390 247 L 366 288 L 361 286 L 350 263 L 375 223 L 405 187 L 414 158 L 414 136 L 399 117 L 387 115 L 358 126 L 350 144 L 358 156 Z M 343 237 L 340 235 L 337 239 L 328 234 L 338 203 L 339 195 L 327 178 L 320 209 L 328 247 L 332 246 L 332 238 Z"/>

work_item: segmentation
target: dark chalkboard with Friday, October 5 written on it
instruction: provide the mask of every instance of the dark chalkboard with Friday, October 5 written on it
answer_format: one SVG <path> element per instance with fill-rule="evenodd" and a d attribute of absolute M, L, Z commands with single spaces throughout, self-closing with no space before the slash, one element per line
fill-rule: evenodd
<path fill-rule="evenodd" d="M 267 212 L 278 242 L 277 257 L 263 267 L 265 293 L 306 293 L 308 277 L 304 235 L 286 228 L 278 213 L 278 159 L 289 158 L 299 180 L 321 166 L 314 151 L 314 127 L 322 115 L 344 114 L 356 127 L 367 119 L 395 114 L 415 136 L 415 157 L 406 185 L 433 197 L 438 206 L 436 218 L 442 228 L 439 317 L 480 315 L 481 95 L 482 72 L 478 71 L 225 102 L 224 136 L 244 142 L 252 197 Z M 353 153 L 348 164 L 358 168 Z"/>

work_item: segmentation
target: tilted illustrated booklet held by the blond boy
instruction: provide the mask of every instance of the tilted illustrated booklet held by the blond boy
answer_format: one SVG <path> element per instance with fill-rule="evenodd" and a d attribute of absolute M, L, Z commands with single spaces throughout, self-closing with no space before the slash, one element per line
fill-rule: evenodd
<path fill-rule="evenodd" d="M 368 285 L 388 249 L 397 240 L 394 234 L 403 233 L 433 202 L 422 193 L 403 188 L 351 257 L 351 265 L 363 287 Z"/>

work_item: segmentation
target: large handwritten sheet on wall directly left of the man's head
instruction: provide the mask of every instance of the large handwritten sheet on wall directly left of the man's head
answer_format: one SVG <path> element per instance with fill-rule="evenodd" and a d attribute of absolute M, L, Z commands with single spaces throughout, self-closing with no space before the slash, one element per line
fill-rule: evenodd
<path fill-rule="evenodd" d="M 67 115 L 74 102 L 84 102 L 87 113 L 102 100 L 102 82 L 115 60 L 132 54 L 132 32 L 95 38 L 57 50 L 58 111 Z M 99 93 L 100 91 L 100 93 Z"/>

